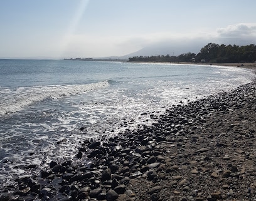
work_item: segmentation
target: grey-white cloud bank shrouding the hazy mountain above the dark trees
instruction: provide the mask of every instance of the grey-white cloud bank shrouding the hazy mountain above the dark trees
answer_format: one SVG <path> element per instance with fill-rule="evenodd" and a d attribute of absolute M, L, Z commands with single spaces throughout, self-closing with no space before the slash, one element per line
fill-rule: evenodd
<path fill-rule="evenodd" d="M 164 37 L 165 36 L 165 37 Z M 147 36 L 146 43 L 141 44 L 143 48 L 128 56 L 150 56 L 159 54 L 170 54 L 178 56 L 182 53 L 199 53 L 200 49 L 208 43 L 248 45 L 256 44 L 256 24 L 240 23 L 218 28 L 215 32 L 184 34 L 182 36 L 171 36 L 157 34 L 154 37 Z M 136 38 L 137 41 L 137 38 Z M 143 41 L 143 40 L 142 40 Z M 145 40 L 144 40 L 145 41 Z M 129 43 L 133 43 L 132 39 Z"/>

